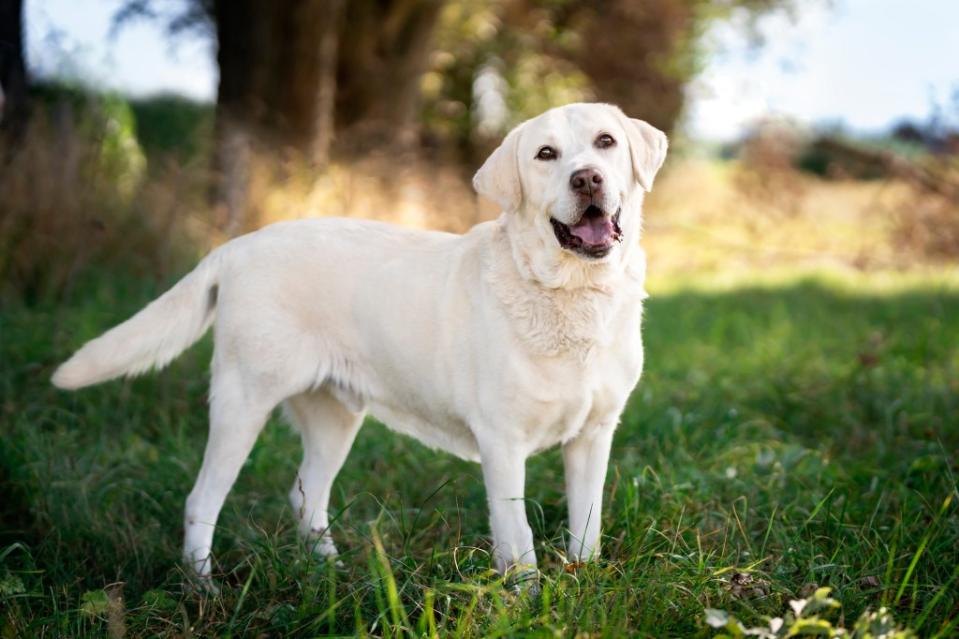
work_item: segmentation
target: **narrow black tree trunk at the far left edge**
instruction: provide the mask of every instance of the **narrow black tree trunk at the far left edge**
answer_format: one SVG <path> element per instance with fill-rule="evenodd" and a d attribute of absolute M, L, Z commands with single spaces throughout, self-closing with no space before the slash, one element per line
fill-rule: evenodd
<path fill-rule="evenodd" d="M 23 57 L 23 0 L 0 0 L 0 132 L 16 145 L 29 116 Z"/>

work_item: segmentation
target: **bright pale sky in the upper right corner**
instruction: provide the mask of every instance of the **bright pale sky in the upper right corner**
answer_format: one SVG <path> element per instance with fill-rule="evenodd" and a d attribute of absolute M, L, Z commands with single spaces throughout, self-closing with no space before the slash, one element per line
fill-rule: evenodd
<path fill-rule="evenodd" d="M 875 131 L 938 105 L 959 120 L 959 0 L 803 0 L 794 19 L 709 34 L 714 57 L 691 88 L 693 134 L 731 137 L 757 117 Z M 955 96 L 955 97 L 954 97 Z"/>

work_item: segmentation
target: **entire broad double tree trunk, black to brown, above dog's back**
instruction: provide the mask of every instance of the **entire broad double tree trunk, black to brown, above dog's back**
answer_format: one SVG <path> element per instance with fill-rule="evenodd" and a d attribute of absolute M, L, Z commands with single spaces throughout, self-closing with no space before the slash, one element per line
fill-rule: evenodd
<path fill-rule="evenodd" d="M 417 142 L 419 79 L 442 0 L 215 0 L 216 186 L 228 232 L 250 219 L 257 157 L 314 166 Z"/>

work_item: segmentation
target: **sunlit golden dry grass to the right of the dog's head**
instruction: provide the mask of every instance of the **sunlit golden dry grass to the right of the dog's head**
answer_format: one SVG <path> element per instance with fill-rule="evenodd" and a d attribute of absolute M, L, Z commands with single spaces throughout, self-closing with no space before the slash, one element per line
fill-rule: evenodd
<path fill-rule="evenodd" d="M 896 180 L 763 176 L 738 163 L 690 161 L 673 166 L 651 194 L 644 243 L 650 271 L 667 278 L 822 268 L 938 270 L 941 254 L 902 242 L 903 220 L 916 220 L 916 204 L 927 197 Z M 959 221 L 956 208 L 945 207 L 941 215 Z M 929 232 L 924 221 L 915 225 Z"/>

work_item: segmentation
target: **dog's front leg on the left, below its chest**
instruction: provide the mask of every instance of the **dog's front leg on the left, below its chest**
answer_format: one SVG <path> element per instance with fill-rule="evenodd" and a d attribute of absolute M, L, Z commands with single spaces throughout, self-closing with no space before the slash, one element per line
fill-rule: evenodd
<path fill-rule="evenodd" d="M 533 531 L 526 520 L 526 456 L 506 442 L 480 442 L 483 480 L 489 501 L 496 569 L 523 577 L 536 573 Z"/>

